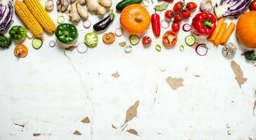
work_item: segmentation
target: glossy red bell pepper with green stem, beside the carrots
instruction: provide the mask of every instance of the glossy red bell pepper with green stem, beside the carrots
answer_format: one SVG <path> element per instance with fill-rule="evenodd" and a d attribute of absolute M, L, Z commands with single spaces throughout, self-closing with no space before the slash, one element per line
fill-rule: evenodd
<path fill-rule="evenodd" d="M 196 36 L 207 36 L 212 34 L 212 32 L 215 31 L 216 22 L 217 19 L 212 13 L 198 13 L 198 15 L 193 18 L 191 25 L 192 32 Z"/>

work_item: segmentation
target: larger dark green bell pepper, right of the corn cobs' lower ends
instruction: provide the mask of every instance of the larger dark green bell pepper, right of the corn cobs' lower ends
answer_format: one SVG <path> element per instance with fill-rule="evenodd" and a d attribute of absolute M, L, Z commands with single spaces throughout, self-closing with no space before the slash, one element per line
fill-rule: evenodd
<path fill-rule="evenodd" d="M 70 44 L 77 40 L 78 32 L 74 25 L 63 23 L 58 25 L 55 35 L 61 43 Z"/>

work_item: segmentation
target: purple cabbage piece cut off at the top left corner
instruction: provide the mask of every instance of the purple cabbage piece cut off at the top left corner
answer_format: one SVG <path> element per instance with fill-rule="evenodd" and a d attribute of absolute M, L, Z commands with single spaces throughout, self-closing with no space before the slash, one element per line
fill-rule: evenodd
<path fill-rule="evenodd" d="M 4 31 L 13 23 L 13 0 L 0 1 L 0 31 Z"/>

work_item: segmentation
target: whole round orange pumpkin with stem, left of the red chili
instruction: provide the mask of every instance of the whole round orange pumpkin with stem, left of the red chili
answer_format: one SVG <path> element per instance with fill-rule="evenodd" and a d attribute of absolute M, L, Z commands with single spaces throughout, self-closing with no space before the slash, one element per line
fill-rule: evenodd
<path fill-rule="evenodd" d="M 151 24 L 148 10 L 141 4 L 131 4 L 122 10 L 120 15 L 122 28 L 129 34 L 143 34 Z"/>

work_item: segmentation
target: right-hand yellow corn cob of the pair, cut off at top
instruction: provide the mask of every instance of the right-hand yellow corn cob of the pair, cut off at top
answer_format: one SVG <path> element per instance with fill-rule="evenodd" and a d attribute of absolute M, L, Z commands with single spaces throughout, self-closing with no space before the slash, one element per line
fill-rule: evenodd
<path fill-rule="evenodd" d="M 47 33 L 53 34 L 56 31 L 53 20 L 51 20 L 39 0 L 24 0 L 24 3 Z"/>

